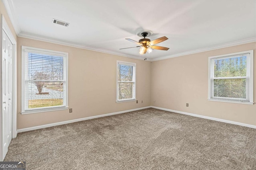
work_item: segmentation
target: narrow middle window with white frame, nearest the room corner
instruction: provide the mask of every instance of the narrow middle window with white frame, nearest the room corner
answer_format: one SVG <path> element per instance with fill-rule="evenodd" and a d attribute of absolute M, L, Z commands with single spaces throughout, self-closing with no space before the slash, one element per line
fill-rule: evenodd
<path fill-rule="evenodd" d="M 116 102 L 136 100 L 136 63 L 117 61 Z"/>

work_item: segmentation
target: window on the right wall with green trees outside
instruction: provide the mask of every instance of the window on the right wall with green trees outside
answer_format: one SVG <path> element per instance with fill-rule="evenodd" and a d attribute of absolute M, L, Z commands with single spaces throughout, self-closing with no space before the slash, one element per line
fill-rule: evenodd
<path fill-rule="evenodd" d="M 208 100 L 253 104 L 253 50 L 209 57 Z"/>

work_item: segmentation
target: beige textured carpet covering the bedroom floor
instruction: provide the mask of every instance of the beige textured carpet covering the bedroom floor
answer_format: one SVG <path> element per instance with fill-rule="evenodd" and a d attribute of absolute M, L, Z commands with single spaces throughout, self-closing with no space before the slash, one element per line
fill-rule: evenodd
<path fill-rule="evenodd" d="M 150 108 L 19 133 L 4 161 L 27 170 L 256 170 L 256 129 Z"/>

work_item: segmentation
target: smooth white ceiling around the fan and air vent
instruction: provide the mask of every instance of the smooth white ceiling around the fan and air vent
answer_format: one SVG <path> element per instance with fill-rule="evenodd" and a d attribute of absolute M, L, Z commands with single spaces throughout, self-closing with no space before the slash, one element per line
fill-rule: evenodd
<path fill-rule="evenodd" d="M 62 41 L 96 51 L 156 60 L 234 41 L 256 39 L 256 0 L 4 0 L 18 36 Z M 52 23 L 52 18 L 70 23 Z M 169 39 L 140 55 L 126 40 L 151 30 Z M 36 35 L 36 36 L 35 36 Z M 247 40 L 246 40 L 247 39 Z"/>

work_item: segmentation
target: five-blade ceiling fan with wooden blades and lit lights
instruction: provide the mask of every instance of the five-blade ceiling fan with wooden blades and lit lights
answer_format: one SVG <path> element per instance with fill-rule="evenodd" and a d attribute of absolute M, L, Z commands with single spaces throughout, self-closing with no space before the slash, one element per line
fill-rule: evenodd
<path fill-rule="evenodd" d="M 129 38 L 126 38 L 128 41 L 132 42 L 132 43 L 136 43 L 137 45 L 139 46 L 136 46 L 136 47 L 140 47 L 140 54 L 143 55 L 145 54 L 147 51 L 148 53 L 151 53 L 153 51 L 153 49 L 156 49 L 156 50 L 168 50 L 169 48 L 167 47 L 160 47 L 160 46 L 155 46 L 155 44 L 158 44 L 158 43 L 161 43 L 165 40 L 167 40 L 168 38 L 167 37 L 160 37 L 158 39 L 155 39 L 153 41 L 151 41 L 150 39 L 146 38 L 146 36 L 148 35 L 147 32 L 143 32 L 141 33 L 142 39 L 139 40 L 139 42 L 137 41 L 134 41 L 132 39 L 129 39 Z M 122 49 L 130 49 L 130 48 L 136 48 L 136 47 L 128 47 L 128 48 L 122 48 Z M 122 50 L 120 49 L 120 50 Z"/>

